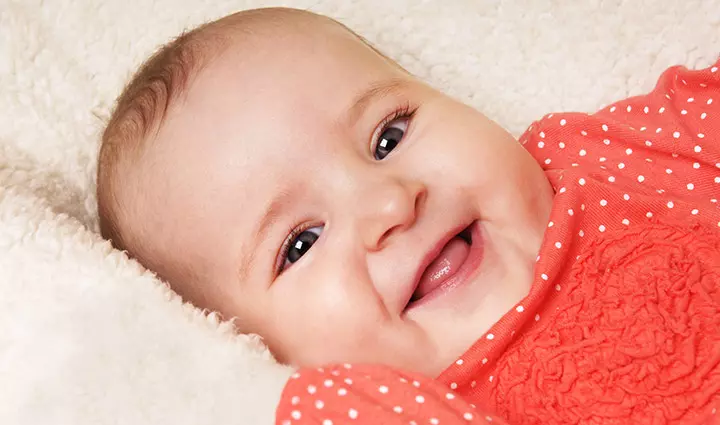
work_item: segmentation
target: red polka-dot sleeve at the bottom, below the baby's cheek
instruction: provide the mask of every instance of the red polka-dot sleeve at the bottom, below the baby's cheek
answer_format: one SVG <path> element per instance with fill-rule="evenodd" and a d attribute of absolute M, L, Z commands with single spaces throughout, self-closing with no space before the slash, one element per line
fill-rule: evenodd
<path fill-rule="evenodd" d="M 301 369 L 287 382 L 277 425 L 506 424 L 428 378 L 381 366 Z"/>

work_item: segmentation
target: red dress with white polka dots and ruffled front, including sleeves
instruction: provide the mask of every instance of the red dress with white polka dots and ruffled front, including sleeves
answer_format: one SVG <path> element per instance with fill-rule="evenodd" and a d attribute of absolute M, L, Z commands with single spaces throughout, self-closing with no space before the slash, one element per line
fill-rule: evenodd
<path fill-rule="evenodd" d="M 533 123 L 555 195 L 528 296 L 435 380 L 298 371 L 277 423 L 720 424 L 719 66 Z"/>

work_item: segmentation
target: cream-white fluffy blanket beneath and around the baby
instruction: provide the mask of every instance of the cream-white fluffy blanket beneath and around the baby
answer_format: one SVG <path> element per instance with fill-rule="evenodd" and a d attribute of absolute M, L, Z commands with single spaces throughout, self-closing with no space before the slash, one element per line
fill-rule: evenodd
<path fill-rule="evenodd" d="M 271 424 L 289 368 L 96 233 L 129 73 L 262 0 L 0 0 L 0 423 Z M 298 0 L 520 133 L 720 52 L 720 0 Z"/>

